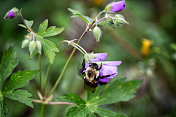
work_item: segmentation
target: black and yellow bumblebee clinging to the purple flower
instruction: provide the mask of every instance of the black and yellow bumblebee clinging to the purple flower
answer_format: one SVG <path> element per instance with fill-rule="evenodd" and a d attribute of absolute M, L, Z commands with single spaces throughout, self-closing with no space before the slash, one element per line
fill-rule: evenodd
<path fill-rule="evenodd" d="M 82 69 L 81 69 L 81 74 L 85 75 L 84 76 L 84 88 L 85 89 L 94 89 L 97 86 L 101 85 L 106 85 L 107 82 L 101 82 L 99 79 L 104 79 L 106 77 L 109 77 L 111 75 L 105 75 L 105 76 L 100 76 L 100 70 L 102 68 L 102 64 L 100 67 L 97 65 L 97 63 L 89 63 L 89 67 L 85 68 L 85 59 L 83 59 L 82 63 Z M 94 92 L 92 91 L 92 92 Z"/>

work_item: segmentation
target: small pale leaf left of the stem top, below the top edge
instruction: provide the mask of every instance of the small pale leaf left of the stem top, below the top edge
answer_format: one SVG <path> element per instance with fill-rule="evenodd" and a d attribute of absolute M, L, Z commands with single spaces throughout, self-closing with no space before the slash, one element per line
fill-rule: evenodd
<path fill-rule="evenodd" d="M 71 17 L 72 18 L 75 18 L 75 17 L 79 17 L 79 18 L 82 18 L 86 23 L 90 24 L 91 22 L 93 22 L 93 19 L 91 19 L 90 17 L 88 16 L 84 16 L 81 14 L 81 12 L 77 11 L 77 10 L 74 10 L 74 9 L 71 9 L 71 8 L 68 8 L 68 10 L 73 14 Z"/>

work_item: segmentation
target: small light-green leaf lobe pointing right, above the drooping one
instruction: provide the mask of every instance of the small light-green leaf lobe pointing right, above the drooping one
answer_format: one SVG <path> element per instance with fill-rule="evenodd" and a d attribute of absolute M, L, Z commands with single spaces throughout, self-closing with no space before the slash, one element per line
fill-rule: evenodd
<path fill-rule="evenodd" d="M 64 28 L 56 28 L 56 26 L 50 26 L 45 32 L 40 34 L 42 37 L 51 37 L 60 34 L 64 31 Z"/>

